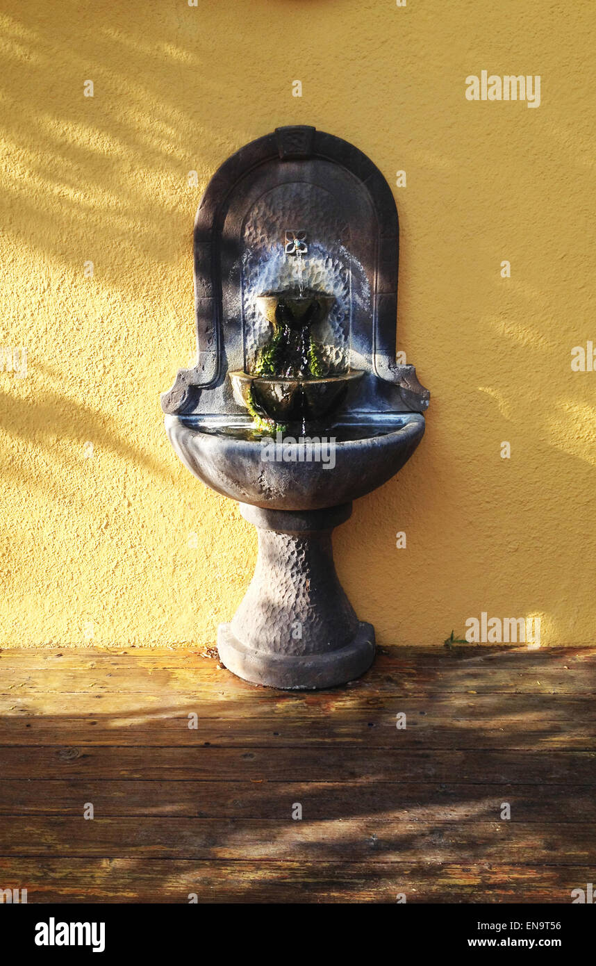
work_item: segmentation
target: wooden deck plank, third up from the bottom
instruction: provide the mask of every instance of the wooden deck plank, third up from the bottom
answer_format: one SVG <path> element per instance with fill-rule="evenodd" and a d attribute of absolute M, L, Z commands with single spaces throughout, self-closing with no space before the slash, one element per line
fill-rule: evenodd
<path fill-rule="evenodd" d="M 102 781 L 27 778 L 0 782 L 0 815 L 81 816 L 92 802 L 101 817 L 287 818 L 294 802 L 310 819 L 375 817 L 387 822 L 511 822 L 596 824 L 591 786 L 358 781 Z M 596 838 L 596 836 L 594 837 Z"/>

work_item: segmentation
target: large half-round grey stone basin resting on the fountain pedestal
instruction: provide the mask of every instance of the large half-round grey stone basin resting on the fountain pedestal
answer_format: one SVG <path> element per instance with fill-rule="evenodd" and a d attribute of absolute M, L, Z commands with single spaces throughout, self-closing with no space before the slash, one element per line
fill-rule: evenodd
<path fill-rule="evenodd" d="M 284 443 L 294 460 L 264 460 L 261 440 L 248 438 L 251 425 L 248 419 L 224 426 L 208 416 L 165 417 L 186 469 L 224 497 L 273 510 L 316 510 L 364 497 L 404 466 L 424 435 L 419 412 L 383 414 L 357 425 L 338 422 L 327 430 L 338 440 L 331 468 L 329 462 L 300 461 L 306 444 L 299 441 Z"/>

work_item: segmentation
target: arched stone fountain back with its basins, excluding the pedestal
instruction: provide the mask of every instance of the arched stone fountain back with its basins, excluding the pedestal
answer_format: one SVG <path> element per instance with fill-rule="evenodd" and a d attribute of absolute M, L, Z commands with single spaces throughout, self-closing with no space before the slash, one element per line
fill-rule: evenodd
<path fill-rule="evenodd" d="M 277 128 L 231 156 L 195 220 L 196 363 L 162 396 L 184 466 L 274 510 L 348 503 L 398 472 L 429 393 L 395 361 L 397 268 L 393 195 L 353 145 Z M 335 440 L 333 460 L 305 458 L 303 438 Z M 283 440 L 277 459 L 263 440 Z"/>

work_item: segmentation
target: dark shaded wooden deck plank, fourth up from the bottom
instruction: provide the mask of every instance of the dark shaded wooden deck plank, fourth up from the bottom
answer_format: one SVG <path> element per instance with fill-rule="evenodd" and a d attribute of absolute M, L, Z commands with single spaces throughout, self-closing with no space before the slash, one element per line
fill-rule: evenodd
<path fill-rule="evenodd" d="M 4 779 L 457 781 L 596 785 L 596 752 L 180 748 L 0 748 Z"/>

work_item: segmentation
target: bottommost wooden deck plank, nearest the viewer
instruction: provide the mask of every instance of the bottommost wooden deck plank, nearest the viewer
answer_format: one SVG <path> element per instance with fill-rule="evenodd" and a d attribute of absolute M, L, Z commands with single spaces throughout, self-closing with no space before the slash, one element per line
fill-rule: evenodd
<path fill-rule="evenodd" d="M 569 902 L 593 865 L 251 863 L 159 859 L 0 859 L 5 888 L 45 902 Z"/>

